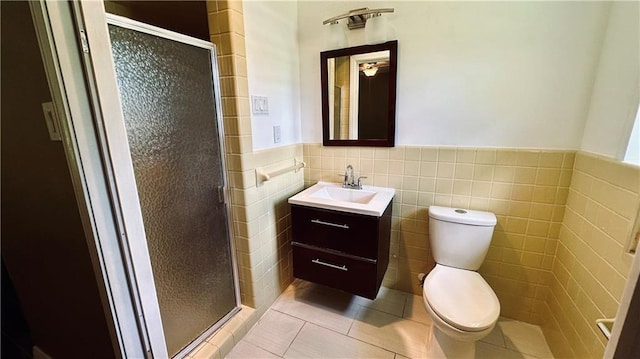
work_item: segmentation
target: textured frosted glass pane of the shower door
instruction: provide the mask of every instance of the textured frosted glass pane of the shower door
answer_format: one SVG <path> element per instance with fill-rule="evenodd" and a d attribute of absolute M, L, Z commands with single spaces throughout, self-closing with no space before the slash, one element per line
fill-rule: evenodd
<path fill-rule="evenodd" d="M 167 349 L 236 307 L 209 49 L 109 25 Z"/>

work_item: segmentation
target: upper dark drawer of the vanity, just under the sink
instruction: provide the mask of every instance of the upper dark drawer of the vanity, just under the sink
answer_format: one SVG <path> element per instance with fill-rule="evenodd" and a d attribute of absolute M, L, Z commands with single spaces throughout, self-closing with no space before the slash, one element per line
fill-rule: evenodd
<path fill-rule="evenodd" d="M 365 258 L 378 256 L 379 219 L 292 206 L 293 240 Z"/>

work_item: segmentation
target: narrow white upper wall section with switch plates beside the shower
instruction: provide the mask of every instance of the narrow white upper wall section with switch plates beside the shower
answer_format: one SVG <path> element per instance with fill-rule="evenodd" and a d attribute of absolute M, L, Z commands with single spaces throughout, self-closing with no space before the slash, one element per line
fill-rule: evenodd
<path fill-rule="evenodd" d="M 298 6 L 294 1 L 245 1 L 249 94 L 266 96 L 268 115 L 251 115 L 253 149 L 300 143 Z M 282 141 L 273 141 L 280 125 Z"/>

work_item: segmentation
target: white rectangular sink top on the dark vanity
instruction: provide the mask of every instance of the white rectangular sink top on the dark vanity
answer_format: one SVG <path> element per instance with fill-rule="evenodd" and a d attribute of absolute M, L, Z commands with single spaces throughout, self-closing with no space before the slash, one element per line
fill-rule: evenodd
<path fill-rule="evenodd" d="M 289 203 L 380 217 L 395 192 L 395 189 L 387 187 L 351 189 L 342 188 L 339 183 L 318 182 L 289 198 Z"/>

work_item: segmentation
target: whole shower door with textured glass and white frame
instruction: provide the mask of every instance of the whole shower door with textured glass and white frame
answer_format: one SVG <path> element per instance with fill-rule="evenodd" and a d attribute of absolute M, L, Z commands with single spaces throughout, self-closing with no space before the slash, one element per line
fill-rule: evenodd
<path fill-rule="evenodd" d="M 183 357 L 240 310 L 215 47 L 101 2 L 32 13 L 113 341 Z"/>

